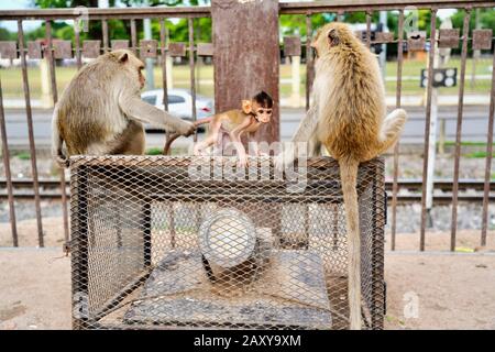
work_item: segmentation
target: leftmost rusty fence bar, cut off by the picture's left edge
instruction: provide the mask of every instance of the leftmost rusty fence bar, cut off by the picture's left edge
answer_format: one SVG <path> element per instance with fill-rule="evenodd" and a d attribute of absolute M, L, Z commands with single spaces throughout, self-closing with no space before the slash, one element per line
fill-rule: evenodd
<path fill-rule="evenodd" d="M 1 77 L 0 77 L 0 133 L 2 138 L 2 156 L 3 156 L 3 168 L 6 169 L 7 194 L 9 198 L 9 219 L 10 219 L 10 229 L 12 231 L 12 245 L 19 246 L 18 221 L 15 220 L 15 205 L 12 187 L 12 174 L 10 172 L 10 152 L 9 152 L 9 143 L 7 141 L 6 114 L 3 110 L 3 92 L 2 92 Z"/>

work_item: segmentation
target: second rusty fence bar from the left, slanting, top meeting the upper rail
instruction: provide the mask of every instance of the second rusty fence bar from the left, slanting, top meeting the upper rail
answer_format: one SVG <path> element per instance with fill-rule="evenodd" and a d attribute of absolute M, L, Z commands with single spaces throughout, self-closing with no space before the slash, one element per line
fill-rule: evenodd
<path fill-rule="evenodd" d="M 41 215 L 40 205 L 40 185 L 37 177 L 37 164 L 36 164 L 36 146 L 34 144 L 34 129 L 33 129 L 33 112 L 31 110 L 31 95 L 30 95 L 30 84 L 28 78 L 28 64 L 25 59 L 24 51 L 24 32 L 22 30 L 22 21 L 18 21 L 18 40 L 19 40 L 19 51 L 21 53 L 21 66 L 22 66 L 22 84 L 24 88 L 24 99 L 25 99 L 25 114 L 28 119 L 28 134 L 30 140 L 30 153 L 31 153 L 31 169 L 33 173 L 33 191 L 34 191 L 34 206 L 36 209 L 36 224 L 37 224 L 37 241 L 41 248 L 44 246 L 43 241 L 43 223 Z"/>

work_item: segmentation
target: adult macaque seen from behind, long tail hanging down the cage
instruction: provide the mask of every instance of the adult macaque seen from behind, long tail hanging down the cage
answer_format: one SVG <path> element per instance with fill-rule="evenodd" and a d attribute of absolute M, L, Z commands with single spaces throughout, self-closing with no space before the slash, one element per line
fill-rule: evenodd
<path fill-rule="evenodd" d="M 308 142 L 311 156 L 320 155 L 323 145 L 339 162 L 349 241 L 350 328 L 355 330 L 361 329 L 358 167 L 397 142 L 407 114 L 396 109 L 386 116 L 376 56 L 348 25 L 337 22 L 324 25 L 311 46 L 317 53 L 312 106 L 293 142 Z M 292 163 L 294 152 L 284 151 L 277 164 Z"/>

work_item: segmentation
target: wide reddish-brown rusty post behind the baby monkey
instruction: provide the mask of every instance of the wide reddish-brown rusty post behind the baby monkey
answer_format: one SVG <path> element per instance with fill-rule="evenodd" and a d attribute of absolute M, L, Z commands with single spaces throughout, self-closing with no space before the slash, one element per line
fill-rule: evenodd
<path fill-rule="evenodd" d="M 242 99 L 260 90 L 275 102 L 273 119 L 258 141 L 279 141 L 278 1 L 212 0 L 215 46 L 215 108 L 240 108 Z"/>

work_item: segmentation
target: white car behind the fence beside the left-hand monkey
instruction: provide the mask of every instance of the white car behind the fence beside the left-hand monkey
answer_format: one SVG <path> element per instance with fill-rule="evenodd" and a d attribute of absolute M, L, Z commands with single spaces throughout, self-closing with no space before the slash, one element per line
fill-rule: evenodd
<path fill-rule="evenodd" d="M 145 91 L 141 95 L 141 99 L 158 109 L 165 109 L 163 105 L 163 89 Z M 193 96 L 190 91 L 187 89 L 169 89 L 168 112 L 177 118 L 193 121 Z M 196 95 L 196 118 L 199 120 L 213 113 L 213 100 Z M 155 127 L 148 124 L 145 124 L 145 129 L 156 130 Z"/>

